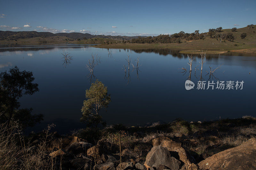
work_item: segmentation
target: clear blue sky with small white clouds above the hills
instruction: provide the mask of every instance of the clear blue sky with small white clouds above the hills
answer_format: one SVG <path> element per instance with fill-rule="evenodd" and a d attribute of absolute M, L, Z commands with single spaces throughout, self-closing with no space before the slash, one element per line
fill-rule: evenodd
<path fill-rule="evenodd" d="M 1 0 L 0 30 L 159 35 L 256 24 L 256 0 Z"/>

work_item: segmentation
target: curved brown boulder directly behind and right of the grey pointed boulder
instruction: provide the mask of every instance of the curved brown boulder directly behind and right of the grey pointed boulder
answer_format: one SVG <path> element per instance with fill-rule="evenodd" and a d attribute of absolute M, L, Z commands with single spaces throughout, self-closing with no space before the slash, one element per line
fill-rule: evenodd
<path fill-rule="evenodd" d="M 181 147 L 181 143 L 172 140 L 165 140 L 162 142 L 161 146 L 166 147 L 168 151 L 174 153 L 178 152 L 179 157 L 176 158 L 180 159 L 183 162 L 186 169 L 188 169 L 188 166 L 190 164 L 195 163 L 194 158 L 191 157 L 191 155 L 184 148 Z"/>

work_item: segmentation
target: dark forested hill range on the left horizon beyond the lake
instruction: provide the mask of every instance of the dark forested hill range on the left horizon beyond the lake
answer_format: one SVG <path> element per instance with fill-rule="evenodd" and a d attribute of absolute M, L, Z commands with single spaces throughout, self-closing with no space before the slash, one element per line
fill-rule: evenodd
<path fill-rule="evenodd" d="M 90 39 L 90 38 L 108 38 L 114 40 L 131 40 L 133 38 L 138 38 L 138 36 L 111 36 L 111 35 L 92 35 L 89 33 L 50 33 L 50 32 L 36 32 L 36 31 L 0 31 L 0 40 L 18 40 L 25 38 L 34 37 L 53 37 L 61 36 L 68 37 L 70 39 Z M 146 37 L 146 36 L 142 36 Z"/>

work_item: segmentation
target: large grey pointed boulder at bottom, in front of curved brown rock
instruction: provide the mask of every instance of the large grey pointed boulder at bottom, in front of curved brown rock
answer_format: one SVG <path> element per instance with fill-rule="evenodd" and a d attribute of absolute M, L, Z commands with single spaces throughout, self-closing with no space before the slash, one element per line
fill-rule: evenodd
<path fill-rule="evenodd" d="M 178 170 L 180 168 L 181 162 L 172 157 L 170 151 L 166 147 L 154 146 L 146 157 L 144 163 L 145 167 L 157 168 L 159 165 L 163 165 L 172 170 Z"/>

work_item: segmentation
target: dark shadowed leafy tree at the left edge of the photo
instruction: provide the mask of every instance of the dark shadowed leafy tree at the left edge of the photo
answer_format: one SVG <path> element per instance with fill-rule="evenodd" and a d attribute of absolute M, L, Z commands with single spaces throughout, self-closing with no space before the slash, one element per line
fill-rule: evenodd
<path fill-rule="evenodd" d="M 20 71 L 15 66 L 9 72 L 0 73 L 0 118 L 1 122 L 17 121 L 25 129 L 43 120 L 43 115 L 31 115 L 32 108 L 20 108 L 18 100 L 25 95 L 39 91 L 38 84 L 30 71 Z"/>

